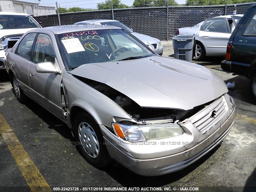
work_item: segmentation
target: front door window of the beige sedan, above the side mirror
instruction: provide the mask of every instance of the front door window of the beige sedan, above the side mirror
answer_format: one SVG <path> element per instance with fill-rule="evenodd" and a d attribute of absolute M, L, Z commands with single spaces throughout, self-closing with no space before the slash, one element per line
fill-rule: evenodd
<path fill-rule="evenodd" d="M 33 62 L 52 62 L 54 63 L 55 54 L 52 47 L 52 41 L 50 36 L 46 34 L 39 34 L 36 40 L 36 46 L 34 50 Z"/>

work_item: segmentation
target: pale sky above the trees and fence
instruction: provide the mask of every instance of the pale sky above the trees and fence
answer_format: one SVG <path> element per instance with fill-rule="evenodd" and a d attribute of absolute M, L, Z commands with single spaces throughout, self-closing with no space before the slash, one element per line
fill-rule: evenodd
<path fill-rule="evenodd" d="M 29 2 L 37 2 L 38 0 L 24 0 Z M 58 5 L 63 8 L 70 8 L 70 7 L 81 7 L 81 8 L 97 8 L 97 3 L 99 2 L 105 2 L 105 0 L 41 0 L 40 5 L 42 6 L 56 6 L 56 1 L 58 2 Z M 134 0 L 121 0 L 121 3 L 126 4 L 128 6 L 131 6 L 133 4 Z M 178 4 L 184 4 L 186 0 L 176 0 Z"/>

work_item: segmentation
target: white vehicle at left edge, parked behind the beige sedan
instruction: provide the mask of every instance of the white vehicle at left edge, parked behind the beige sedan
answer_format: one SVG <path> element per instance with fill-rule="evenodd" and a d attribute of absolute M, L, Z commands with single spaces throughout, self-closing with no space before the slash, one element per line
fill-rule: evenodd
<path fill-rule="evenodd" d="M 28 30 L 40 28 L 34 18 L 24 13 L 0 12 L 0 70 L 4 69 L 5 52 Z"/>

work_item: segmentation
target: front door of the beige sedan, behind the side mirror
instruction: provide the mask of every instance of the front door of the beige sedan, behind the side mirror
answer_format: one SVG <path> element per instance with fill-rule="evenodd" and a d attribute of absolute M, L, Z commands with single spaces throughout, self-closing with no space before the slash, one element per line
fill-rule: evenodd
<path fill-rule="evenodd" d="M 34 46 L 32 62 L 28 70 L 30 88 L 33 98 L 38 103 L 64 120 L 60 93 L 62 74 L 38 73 L 36 71 L 37 63 L 55 63 L 55 58 L 52 38 L 48 34 L 39 33 Z"/>

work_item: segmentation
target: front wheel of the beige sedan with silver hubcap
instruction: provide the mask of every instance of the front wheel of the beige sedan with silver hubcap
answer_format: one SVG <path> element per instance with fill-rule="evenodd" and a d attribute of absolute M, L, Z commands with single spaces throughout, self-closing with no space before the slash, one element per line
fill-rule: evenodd
<path fill-rule="evenodd" d="M 73 129 L 78 149 L 88 163 L 95 167 L 105 167 L 111 163 L 100 128 L 90 115 L 79 113 Z"/>

